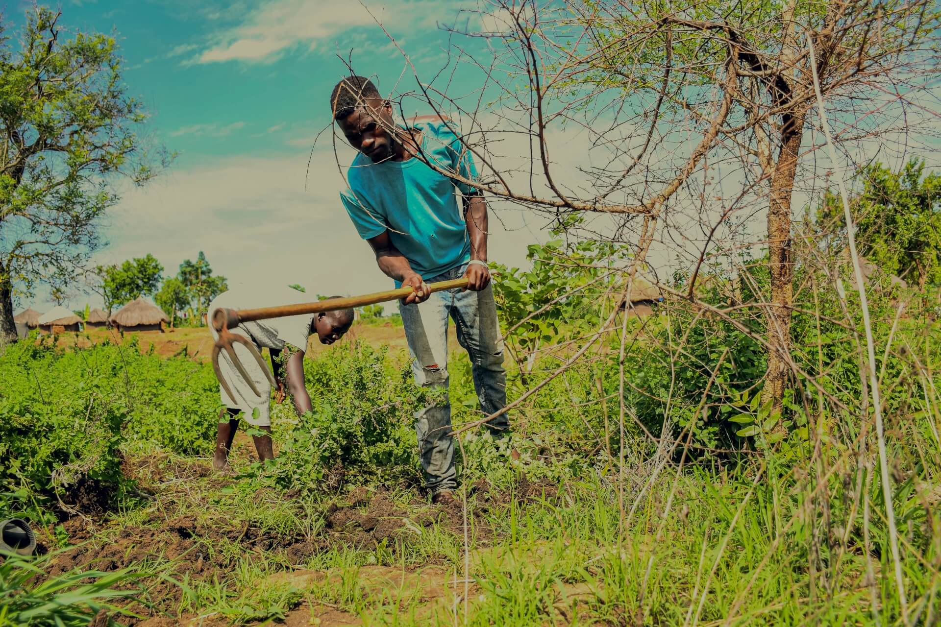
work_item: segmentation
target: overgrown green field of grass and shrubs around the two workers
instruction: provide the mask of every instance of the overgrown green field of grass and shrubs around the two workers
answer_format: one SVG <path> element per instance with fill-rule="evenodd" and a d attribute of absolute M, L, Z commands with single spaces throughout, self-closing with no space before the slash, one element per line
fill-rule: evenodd
<path fill-rule="evenodd" d="M 887 301 L 882 313 L 882 337 L 894 326 L 907 347 L 885 362 L 886 441 L 907 610 L 924 620 L 937 616 L 938 327 L 894 321 Z M 33 520 L 44 555 L 21 588 L 20 562 L 0 566 L 6 611 L 29 590 L 53 603 L 72 590 L 83 616 L 146 625 L 869 624 L 873 603 L 900 616 L 871 424 L 838 409 L 860 385 L 852 329 L 824 321 L 808 340 L 804 366 L 829 383 L 789 400 L 782 440 L 749 392 L 763 356 L 722 320 L 681 303 L 629 319 L 623 392 L 617 334 L 552 377 L 579 324 L 557 324 L 552 350 L 517 369 L 524 332 L 544 327 L 518 330 L 507 358 L 510 400 L 551 379 L 511 414 L 520 459 L 462 432 L 457 509 L 420 490 L 422 398 L 401 342 L 376 338 L 400 327 L 360 326 L 312 356 L 314 411 L 276 407 L 268 466 L 240 432 L 227 475 L 212 471 L 217 387 L 199 357 L 146 334 L 8 346 L 3 505 Z M 671 375 L 662 351 L 685 353 L 682 368 Z M 450 369 L 459 426 L 479 413 L 466 355 Z M 824 418 L 802 419 L 807 407 Z M 749 424 L 758 436 L 735 435 Z"/>

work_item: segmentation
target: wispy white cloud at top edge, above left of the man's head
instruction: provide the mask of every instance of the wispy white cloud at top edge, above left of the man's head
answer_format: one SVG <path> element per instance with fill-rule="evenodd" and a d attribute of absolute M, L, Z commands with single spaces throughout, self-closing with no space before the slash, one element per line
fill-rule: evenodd
<path fill-rule="evenodd" d="M 373 16 L 389 28 L 409 29 L 455 16 L 453 0 L 398 0 L 394 10 L 387 10 L 384 2 L 388 0 L 367 2 L 367 10 L 355 1 L 268 0 L 249 11 L 240 24 L 215 33 L 211 43 L 185 63 L 270 62 L 298 44 L 311 49 L 349 29 L 375 26 Z"/>

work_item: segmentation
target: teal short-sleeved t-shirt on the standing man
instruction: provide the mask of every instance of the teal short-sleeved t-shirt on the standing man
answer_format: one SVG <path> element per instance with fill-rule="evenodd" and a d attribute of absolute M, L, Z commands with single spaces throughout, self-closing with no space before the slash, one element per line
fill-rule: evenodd
<path fill-rule="evenodd" d="M 445 123 L 421 122 L 413 128 L 422 131 L 422 150 L 429 162 L 466 179 L 476 178 L 470 152 Z M 455 184 L 419 157 L 374 164 L 361 152 L 346 180 L 349 189 L 340 197 L 359 237 L 368 240 L 388 229 L 391 243 L 422 278 L 470 259 L 470 239 L 458 197 L 458 193 L 473 194 L 470 185 Z"/>

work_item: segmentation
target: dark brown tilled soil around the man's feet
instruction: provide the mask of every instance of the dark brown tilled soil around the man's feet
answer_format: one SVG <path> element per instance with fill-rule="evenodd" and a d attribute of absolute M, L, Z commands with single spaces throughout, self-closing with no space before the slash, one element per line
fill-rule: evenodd
<path fill-rule="evenodd" d="M 185 486 L 192 481 L 199 479 L 205 484 L 208 480 L 209 485 L 215 488 L 231 484 L 231 478 L 214 476 L 208 462 L 178 459 L 168 462 L 162 456 L 148 456 L 126 461 L 124 472 L 129 478 L 136 479 L 141 494 L 151 494 L 153 504 L 148 516 L 120 529 L 114 523 L 109 526 L 104 519 L 94 514 L 65 521 L 63 526 L 74 546 L 54 556 L 49 574 L 56 575 L 76 567 L 113 572 L 141 562 L 153 564 L 158 560 L 169 561 L 168 577 L 152 577 L 133 584 L 142 585 L 146 593 L 137 597 L 129 609 L 147 619 L 145 624 L 150 627 L 184 624 L 184 617 L 167 618 L 167 615 L 175 617 L 183 598 L 183 588 L 171 579 L 198 582 L 214 579 L 224 581 L 229 577 L 231 564 L 216 549 L 225 542 L 240 545 L 246 553 L 263 552 L 278 556 L 278 561 L 297 569 L 302 568 L 311 556 L 332 548 L 368 550 L 385 541 L 394 553 L 400 541 L 407 542 L 409 537 L 421 533 L 423 528 L 441 525 L 458 534 L 463 530 L 463 510 L 459 504 L 452 507 L 429 506 L 416 496 L 403 506 L 397 504 L 389 492 L 357 488 L 327 505 L 323 511 L 323 530 L 316 537 L 305 537 L 300 532 L 282 532 L 279 535 L 222 516 L 213 518 L 192 513 L 194 509 L 211 512 L 209 503 L 194 508 L 194 504 L 189 502 L 187 512 L 179 513 L 182 498 L 180 491 L 185 491 Z M 469 513 L 473 517 L 477 541 L 485 543 L 493 535 L 486 514 L 491 509 L 507 505 L 514 494 L 516 498 L 528 501 L 558 497 L 554 486 L 533 483 L 525 478 L 521 478 L 512 491 L 503 492 L 492 490 L 486 480 L 481 479 L 470 486 L 468 493 L 473 502 Z M 272 496 L 290 499 L 295 494 L 255 494 L 257 498 Z M 40 541 L 52 544 L 49 538 L 40 537 Z M 308 606 L 304 609 L 311 618 L 320 618 L 316 612 L 321 610 L 326 613 L 323 619 L 333 612 L 327 606 L 319 610 Z M 359 624 L 350 615 L 334 614 L 336 621 L 322 621 L 322 624 Z M 297 619 L 297 616 L 291 618 Z M 135 625 L 139 620 L 120 618 L 122 623 L 128 625 Z M 345 620 L 351 622 L 343 622 Z M 202 620 L 200 624 L 215 623 Z M 227 623 L 223 621 L 218 624 Z"/>

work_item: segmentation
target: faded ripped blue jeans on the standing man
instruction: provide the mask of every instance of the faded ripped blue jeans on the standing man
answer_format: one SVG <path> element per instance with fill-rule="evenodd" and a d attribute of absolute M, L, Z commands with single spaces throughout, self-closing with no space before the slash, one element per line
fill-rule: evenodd
<path fill-rule="evenodd" d="M 427 279 L 427 283 L 447 281 L 464 275 L 467 265 Z M 477 400 L 486 415 L 506 404 L 506 374 L 503 345 L 493 287 L 481 291 L 444 290 L 420 305 L 399 304 L 406 329 L 408 353 L 412 359 L 415 383 L 442 392 L 415 413 L 419 455 L 422 458 L 425 487 L 432 494 L 454 490 L 455 441 L 451 436 L 451 403 L 448 400 L 448 316 L 455 321 L 458 343 L 470 356 Z M 506 415 L 487 423 L 495 434 L 510 427 Z"/>

